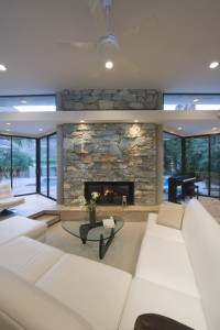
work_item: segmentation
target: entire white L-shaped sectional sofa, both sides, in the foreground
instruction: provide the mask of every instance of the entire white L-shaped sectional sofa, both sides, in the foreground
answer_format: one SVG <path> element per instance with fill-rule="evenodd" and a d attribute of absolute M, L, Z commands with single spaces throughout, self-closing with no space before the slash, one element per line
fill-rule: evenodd
<path fill-rule="evenodd" d="M 219 330 L 219 305 L 220 227 L 196 199 L 182 230 L 150 213 L 134 277 L 20 234 L 0 246 L 2 330 L 162 330 L 138 328 L 147 314 Z"/>

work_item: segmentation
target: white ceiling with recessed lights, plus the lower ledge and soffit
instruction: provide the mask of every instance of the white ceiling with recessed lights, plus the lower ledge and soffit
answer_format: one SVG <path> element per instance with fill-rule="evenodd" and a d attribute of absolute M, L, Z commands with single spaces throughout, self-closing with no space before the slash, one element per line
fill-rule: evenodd
<path fill-rule="evenodd" d="M 96 3 L 97 0 L 90 0 Z M 89 2 L 89 0 L 88 0 Z M 7 0 L 0 8 L 0 96 L 57 94 L 63 89 L 152 88 L 161 92 L 220 92 L 219 0 L 113 0 L 110 25 L 120 54 L 139 72 L 117 62 L 101 67 L 96 50 L 62 46 L 61 41 L 95 42 L 101 35 L 87 0 Z M 139 25 L 136 35 L 125 31 Z M 183 111 L 180 111 L 183 112 Z M 197 111 L 196 111 L 197 112 Z M 202 111 L 204 112 L 204 111 Z M 163 123 L 182 135 L 220 132 L 220 119 L 210 111 L 196 119 L 187 114 L 139 114 L 140 120 Z M 80 113 L 0 113 L 0 132 L 11 120 L 11 133 L 33 136 L 55 130 L 57 123 L 79 120 Z M 88 120 L 98 118 L 87 113 Z M 118 120 L 132 121 L 124 111 Z M 136 113 L 138 114 L 138 113 Z M 85 116 L 85 113 L 84 113 Z M 138 116 L 138 117 L 139 117 Z M 186 118 L 183 118 L 186 117 Z M 32 120 L 33 117 L 35 120 Z M 206 118 L 204 118 L 206 117 Z M 47 119 L 50 118 L 50 119 Z M 111 117 L 112 118 L 112 117 Z M 107 117 L 105 116 L 107 120 Z M 29 121 L 28 121 L 29 120 Z M 103 119 L 102 119 L 103 120 Z M 110 120 L 110 119 L 109 119 Z M 161 122 L 160 122 L 161 120 Z M 37 131 L 43 128 L 43 132 Z M 178 132 L 179 133 L 179 132 Z"/>

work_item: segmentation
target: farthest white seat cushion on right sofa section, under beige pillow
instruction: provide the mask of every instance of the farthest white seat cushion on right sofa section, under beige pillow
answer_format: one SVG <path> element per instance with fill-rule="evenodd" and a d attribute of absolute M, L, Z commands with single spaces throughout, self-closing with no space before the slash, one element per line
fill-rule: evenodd
<path fill-rule="evenodd" d="M 146 221 L 146 235 L 157 237 L 162 239 L 167 239 L 180 243 L 185 243 L 182 231 L 174 228 L 168 228 L 166 226 L 161 226 L 156 223 L 156 213 L 148 213 Z"/>

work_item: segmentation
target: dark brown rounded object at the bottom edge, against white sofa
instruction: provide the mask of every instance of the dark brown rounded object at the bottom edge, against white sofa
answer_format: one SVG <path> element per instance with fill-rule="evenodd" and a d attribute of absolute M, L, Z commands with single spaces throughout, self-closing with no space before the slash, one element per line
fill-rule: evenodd
<path fill-rule="evenodd" d="M 170 318 L 157 314 L 140 315 L 135 321 L 134 330 L 194 330 Z"/>

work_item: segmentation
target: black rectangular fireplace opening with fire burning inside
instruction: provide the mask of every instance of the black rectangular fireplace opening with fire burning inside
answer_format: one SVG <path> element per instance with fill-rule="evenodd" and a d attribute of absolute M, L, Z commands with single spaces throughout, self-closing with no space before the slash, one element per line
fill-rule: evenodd
<path fill-rule="evenodd" d="M 99 193 L 98 205 L 134 205 L 134 183 L 130 182 L 86 182 L 85 198 Z"/>

